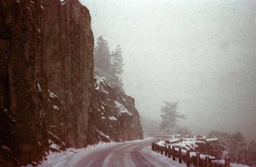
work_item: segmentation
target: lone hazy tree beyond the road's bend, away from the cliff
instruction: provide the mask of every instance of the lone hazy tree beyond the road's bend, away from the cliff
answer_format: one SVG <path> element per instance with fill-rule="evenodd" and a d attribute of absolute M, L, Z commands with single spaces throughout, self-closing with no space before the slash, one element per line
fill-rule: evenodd
<path fill-rule="evenodd" d="M 178 119 L 185 119 L 185 115 L 177 112 L 177 104 L 178 102 L 164 102 L 164 105 L 161 108 L 162 123 L 160 124 L 160 127 L 162 130 L 166 130 L 167 133 L 174 131 L 177 127 Z"/>

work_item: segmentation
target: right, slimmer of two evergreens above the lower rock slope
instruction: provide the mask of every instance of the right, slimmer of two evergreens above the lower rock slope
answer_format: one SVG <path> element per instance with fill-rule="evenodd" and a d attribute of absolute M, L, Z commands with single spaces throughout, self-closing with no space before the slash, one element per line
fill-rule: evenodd
<path fill-rule="evenodd" d="M 122 88 L 122 79 L 120 75 L 123 72 L 123 57 L 122 48 L 120 45 L 117 46 L 114 52 L 111 54 L 111 69 L 109 83 L 114 88 Z"/>

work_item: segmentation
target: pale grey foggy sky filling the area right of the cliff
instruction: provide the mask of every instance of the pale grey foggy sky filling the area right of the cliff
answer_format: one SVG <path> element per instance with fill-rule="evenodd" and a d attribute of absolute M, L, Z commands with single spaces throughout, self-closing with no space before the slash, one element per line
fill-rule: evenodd
<path fill-rule="evenodd" d="M 179 101 L 194 134 L 256 139 L 256 1 L 81 2 L 94 37 L 123 48 L 123 87 L 144 131 L 158 129 L 163 101 Z"/>

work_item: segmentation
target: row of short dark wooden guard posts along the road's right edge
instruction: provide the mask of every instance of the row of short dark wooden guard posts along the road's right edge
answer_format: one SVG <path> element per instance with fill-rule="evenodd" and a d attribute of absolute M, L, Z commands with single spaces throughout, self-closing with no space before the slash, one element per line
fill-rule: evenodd
<path fill-rule="evenodd" d="M 199 166 L 210 167 L 213 165 L 211 163 L 211 160 L 214 160 L 214 159 L 210 159 L 211 156 L 204 156 L 204 155 L 201 155 L 201 156 L 205 157 L 205 159 L 201 159 L 200 152 L 190 152 L 189 150 L 175 148 L 174 146 L 172 146 L 171 148 L 171 145 L 165 145 L 163 147 L 156 144 L 155 141 L 151 143 L 151 149 L 152 151 L 158 152 L 161 155 L 168 156 L 169 158 L 172 157 L 172 160 L 174 161 L 177 158 L 179 159 L 179 163 L 182 163 L 182 160 L 183 160 L 187 164 L 187 166 L 190 166 L 192 161 L 193 161 L 192 164 L 194 164 L 196 167 L 199 167 Z M 196 154 L 196 156 L 195 157 L 191 156 L 191 153 Z M 225 158 L 225 167 L 230 167 L 229 157 Z"/>

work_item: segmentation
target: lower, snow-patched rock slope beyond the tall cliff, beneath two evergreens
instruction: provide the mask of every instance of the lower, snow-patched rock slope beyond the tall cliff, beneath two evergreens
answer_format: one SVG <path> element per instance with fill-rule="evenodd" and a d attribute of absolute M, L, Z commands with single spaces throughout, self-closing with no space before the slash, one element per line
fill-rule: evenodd
<path fill-rule="evenodd" d="M 89 141 L 142 139 L 140 116 L 134 99 L 114 91 L 104 78 L 95 76 L 95 89 L 90 106 Z M 94 112 L 93 112 L 94 111 Z"/>

